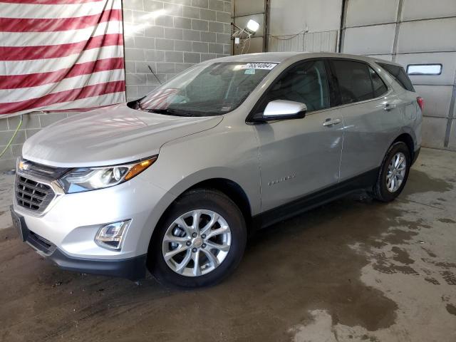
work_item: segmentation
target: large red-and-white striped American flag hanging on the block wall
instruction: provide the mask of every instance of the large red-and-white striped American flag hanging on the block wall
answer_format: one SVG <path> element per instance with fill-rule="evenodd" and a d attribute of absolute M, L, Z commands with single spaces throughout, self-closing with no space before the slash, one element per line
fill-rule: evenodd
<path fill-rule="evenodd" d="M 121 0 L 0 0 L 0 116 L 125 101 Z"/>

